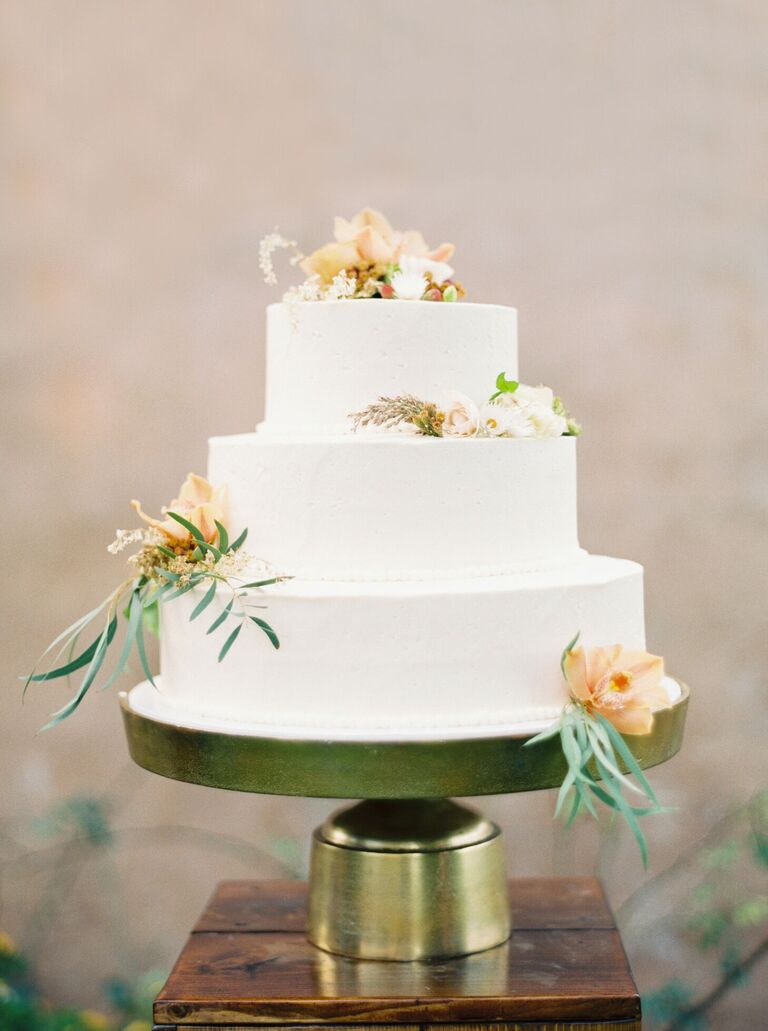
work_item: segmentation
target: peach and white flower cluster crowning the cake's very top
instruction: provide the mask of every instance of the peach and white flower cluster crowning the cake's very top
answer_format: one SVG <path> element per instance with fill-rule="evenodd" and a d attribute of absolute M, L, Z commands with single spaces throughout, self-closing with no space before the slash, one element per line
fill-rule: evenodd
<path fill-rule="evenodd" d="M 278 232 L 265 236 L 259 260 L 265 281 L 277 282 L 272 257 L 279 248 L 294 252 L 292 264 L 307 278 L 286 294 L 288 301 L 383 298 L 401 301 L 457 301 L 464 296 L 447 264 L 453 243 L 430 247 L 415 229 L 393 229 L 380 211 L 363 208 L 353 219 L 336 218 L 334 238 L 304 257 L 295 241 Z"/>

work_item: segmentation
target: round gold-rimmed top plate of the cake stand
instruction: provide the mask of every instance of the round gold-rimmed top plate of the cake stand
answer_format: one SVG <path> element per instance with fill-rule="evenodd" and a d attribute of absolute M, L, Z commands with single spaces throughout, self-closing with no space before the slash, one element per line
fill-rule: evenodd
<path fill-rule="evenodd" d="M 669 708 L 654 729 L 627 737 L 640 766 L 656 766 L 680 747 L 689 689 L 671 681 Z M 541 726 L 470 736 L 407 740 L 274 736 L 181 718 L 148 683 L 121 694 L 133 760 L 175 780 L 266 795 L 313 798 L 447 798 L 503 795 L 558 787 L 565 761 L 558 737 L 532 749 Z"/>

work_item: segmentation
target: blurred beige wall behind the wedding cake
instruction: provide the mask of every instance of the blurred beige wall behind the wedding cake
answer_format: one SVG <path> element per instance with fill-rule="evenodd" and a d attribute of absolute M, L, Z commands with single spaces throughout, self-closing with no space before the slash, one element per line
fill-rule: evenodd
<path fill-rule="evenodd" d="M 549 795 L 487 804 L 514 873 L 597 864 L 620 905 L 768 779 L 768 8 L 0 9 L 0 820 L 24 838 L 56 800 L 106 792 L 123 841 L 69 878 L 46 990 L 82 1001 L 115 957 L 169 964 L 214 880 L 274 875 L 285 838 L 300 867 L 330 808 L 132 768 L 114 691 L 35 736 L 65 689 L 22 707 L 15 676 L 120 575 L 105 545 L 129 498 L 156 508 L 208 435 L 260 418 L 260 237 L 311 248 L 364 204 L 454 239 L 470 297 L 519 308 L 523 374 L 586 427 L 582 542 L 644 564 L 649 645 L 693 686 L 684 751 L 654 777 L 679 812 L 646 827 L 649 873 L 624 836 L 564 835 Z M 0 926 L 24 942 L 37 867 L 0 869 Z M 647 943 L 630 954 L 641 987 L 661 976 Z"/>

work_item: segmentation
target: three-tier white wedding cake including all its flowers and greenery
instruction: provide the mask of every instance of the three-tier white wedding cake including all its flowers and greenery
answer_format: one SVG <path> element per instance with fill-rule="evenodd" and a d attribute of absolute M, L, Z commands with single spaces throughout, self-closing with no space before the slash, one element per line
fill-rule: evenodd
<path fill-rule="evenodd" d="M 334 237 L 308 258 L 265 237 L 267 281 L 282 247 L 306 279 L 267 310 L 264 421 L 212 438 L 207 478 L 190 473 L 162 518 L 132 502 L 144 525 L 108 545 L 138 546 L 128 575 L 27 686 L 81 671 L 53 726 L 108 655 L 105 687 L 135 656 L 134 756 L 204 784 L 221 783 L 220 735 L 265 768 L 282 762 L 277 738 L 293 754 L 352 741 L 374 765 L 404 742 L 434 757 L 433 743 L 499 738 L 510 772 L 512 738 L 549 742 L 544 784 L 559 737 L 556 811 L 607 805 L 646 858 L 637 819 L 662 810 L 641 765 L 679 746 L 687 693 L 644 651 L 641 567 L 579 547 L 580 427 L 520 381 L 516 312 L 462 300 L 452 245 L 430 251 L 371 209 Z M 160 633 L 159 676 L 145 631 Z M 645 738 L 637 755 L 628 738 Z"/>

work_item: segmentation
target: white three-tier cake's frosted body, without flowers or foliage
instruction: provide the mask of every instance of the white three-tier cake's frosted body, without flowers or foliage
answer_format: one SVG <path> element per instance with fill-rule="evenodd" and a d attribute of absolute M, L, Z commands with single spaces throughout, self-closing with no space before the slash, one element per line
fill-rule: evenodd
<path fill-rule="evenodd" d="M 248 548 L 291 577 L 252 592 L 280 647 L 243 633 L 222 662 L 190 620 L 202 589 L 164 605 L 158 687 L 180 719 L 279 736 L 502 733 L 560 714 L 577 632 L 644 648 L 641 567 L 578 544 L 575 436 L 550 394 L 534 418 L 543 389 L 511 393 L 515 310 L 445 303 L 438 266 L 401 259 L 396 275 L 426 274 L 443 303 L 403 299 L 396 276 L 380 297 L 349 296 L 342 272 L 340 299 L 270 305 L 265 420 L 211 439 L 208 479 L 227 487 L 230 535 L 247 527 Z M 509 396 L 475 408 L 497 378 Z M 416 399 L 435 401 L 427 432 L 397 415 Z"/>

